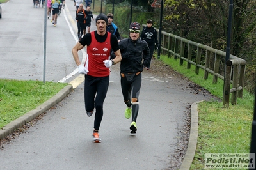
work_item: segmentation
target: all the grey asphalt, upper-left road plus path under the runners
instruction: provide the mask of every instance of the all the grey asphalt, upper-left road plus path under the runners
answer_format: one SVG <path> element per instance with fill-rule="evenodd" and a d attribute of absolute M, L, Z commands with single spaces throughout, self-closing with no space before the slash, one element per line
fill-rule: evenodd
<path fill-rule="evenodd" d="M 57 27 L 47 20 L 46 81 L 76 81 L 78 75 L 71 54 L 77 42 L 75 7 L 73 1 L 66 1 Z M 2 7 L 0 78 L 42 81 L 44 8 L 33 8 L 31 0 L 12 0 Z M 85 50 L 80 53 L 81 59 Z M 99 131 L 102 143 L 92 142 L 94 119 L 86 116 L 84 84 L 78 83 L 36 125 L 4 144 L 0 169 L 172 169 L 170 160 L 182 135 L 186 107 L 198 100 L 209 100 L 211 95 L 191 93 L 173 77 L 158 77 L 145 71 L 138 131 L 130 134 L 131 120 L 124 117 L 126 106 L 118 65 L 111 70 Z"/>

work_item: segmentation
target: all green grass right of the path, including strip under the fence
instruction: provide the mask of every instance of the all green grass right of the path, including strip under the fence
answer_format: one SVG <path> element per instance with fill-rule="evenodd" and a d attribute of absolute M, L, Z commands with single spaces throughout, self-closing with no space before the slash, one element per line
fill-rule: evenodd
<path fill-rule="evenodd" d="M 204 70 L 195 74 L 195 66 L 186 68 L 179 59 L 160 56 L 160 59 L 170 65 L 173 70 L 182 73 L 191 81 L 209 90 L 213 95 L 222 98 L 223 81 L 212 84 L 212 75 L 204 80 Z M 254 95 L 244 90 L 243 98 L 237 99 L 237 105 L 223 108 L 222 102 L 204 101 L 198 104 L 198 143 L 195 157 L 190 169 L 204 169 L 205 153 L 249 153 L 254 109 Z"/>

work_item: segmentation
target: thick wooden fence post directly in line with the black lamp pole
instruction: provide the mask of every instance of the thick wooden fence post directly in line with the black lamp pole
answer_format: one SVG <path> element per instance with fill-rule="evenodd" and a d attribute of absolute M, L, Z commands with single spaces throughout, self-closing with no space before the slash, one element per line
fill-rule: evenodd
<path fill-rule="evenodd" d="M 224 88 L 223 88 L 223 107 L 229 107 L 231 68 L 232 68 L 232 61 L 228 60 L 226 62 L 226 68 L 225 68 L 225 79 L 224 79 Z"/>

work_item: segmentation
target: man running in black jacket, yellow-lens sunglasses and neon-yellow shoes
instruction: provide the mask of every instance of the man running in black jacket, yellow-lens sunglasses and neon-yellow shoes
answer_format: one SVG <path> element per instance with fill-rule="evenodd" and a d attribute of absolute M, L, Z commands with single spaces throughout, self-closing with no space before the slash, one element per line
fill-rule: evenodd
<path fill-rule="evenodd" d="M 131 133 L 136 133 L 136 119 L 139 111 L 139 94 L 141 88 L 141 72 L 143 65 L 148 67 L 150 58 L 150 49 L 145 40 L 140 40 L 140 24 L 132 22 L 130 25 L 129 38 L 119 42 L 119 48 L 122 54 L 120 64 L 121 88 L 124 102 L 127 105 L 125 109 L 125 118 L 132 116 L 130 125 Z M 115 55 L 111 55 L 115 57 Z"/>

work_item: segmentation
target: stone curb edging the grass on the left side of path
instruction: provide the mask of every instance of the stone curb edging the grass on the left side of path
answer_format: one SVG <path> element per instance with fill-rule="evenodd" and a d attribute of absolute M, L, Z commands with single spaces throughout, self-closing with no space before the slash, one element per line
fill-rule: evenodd
<path fill-rule="evenodd" d="M 9 134 L 12 134 L 17 128 L 22 127 L 27 122 L 33 120 L 39 114 L 42 114 L 45 111 L 48 111 L 52 106 L 58 104 L 63 98 L 67 97 L 67 95 L 72 91 L 73 86 L 68 84 L 65 88 L 61 89 L 54 97 L 50 98 L 44 104 L 39 105 L 36 109 L 20 116 L 16 120 L 11 121 L 5 127 L 0 130 L 0 139 L 4 139 Z"/>

